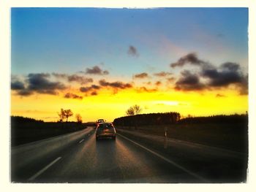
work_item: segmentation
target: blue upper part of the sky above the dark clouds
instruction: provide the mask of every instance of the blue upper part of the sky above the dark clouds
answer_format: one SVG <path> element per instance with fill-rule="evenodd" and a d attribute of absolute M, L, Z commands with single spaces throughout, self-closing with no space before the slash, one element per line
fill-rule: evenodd
<path fill-rule="evenodd" d="M 187 53 L 247 69 L 246 8 L 12 8 L 12 74 L 171 72 Z M 129 46 L 138 55 L 127 54 Z"/>

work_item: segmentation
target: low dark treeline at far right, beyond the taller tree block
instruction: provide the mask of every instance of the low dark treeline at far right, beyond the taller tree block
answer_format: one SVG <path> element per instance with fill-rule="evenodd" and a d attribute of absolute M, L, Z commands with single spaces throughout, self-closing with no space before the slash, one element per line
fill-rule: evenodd
<path fill-rule="evenodd" d="M 178 123 L 248 123 L 248 115 L 212 115 L 208 117 L 184 118 Z"/>

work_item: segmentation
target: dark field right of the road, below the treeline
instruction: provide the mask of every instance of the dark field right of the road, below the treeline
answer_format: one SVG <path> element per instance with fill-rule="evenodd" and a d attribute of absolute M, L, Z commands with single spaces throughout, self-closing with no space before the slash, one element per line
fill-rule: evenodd
<path fill-rule="evenodd" d="M 246 123 L 176 123 L 159 126 L 117 126 L 141 134 L 196 142 L 213 147 L 222 147 L 242 153 L 248 152 L 248 128 Z"/>

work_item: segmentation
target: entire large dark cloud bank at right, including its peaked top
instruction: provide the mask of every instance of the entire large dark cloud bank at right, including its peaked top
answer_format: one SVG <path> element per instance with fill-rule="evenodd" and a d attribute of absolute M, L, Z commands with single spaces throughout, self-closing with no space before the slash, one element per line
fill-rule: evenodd
<path fill-rule="evenodd" d="M 181 77 L 176 82 L 177 90 L 196 91 L 235 85 L 241 94 L 248 93 L 248 76 L 243 74 L 239 64 L 226 62 L 217 67 L 200 60 L 195 53 L 189 53 L 180 58 L 176 63 L 171 64 L 171 66 L 182 67 L 185 64 L 197 65 L 200 71 L 197 74 L 191 74 L 187 70 L 182 71 Z"/>

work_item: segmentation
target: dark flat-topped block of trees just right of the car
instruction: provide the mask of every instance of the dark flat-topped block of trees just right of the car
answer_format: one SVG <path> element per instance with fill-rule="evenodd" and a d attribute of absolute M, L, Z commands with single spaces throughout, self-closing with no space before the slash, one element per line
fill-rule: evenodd
<path fill-rule="evenodd" d="M 115 126 L 147 126 L 176 123 L 181 115 L 178 112 L 148 113 L 129 115 L 113 120 Z"/>

